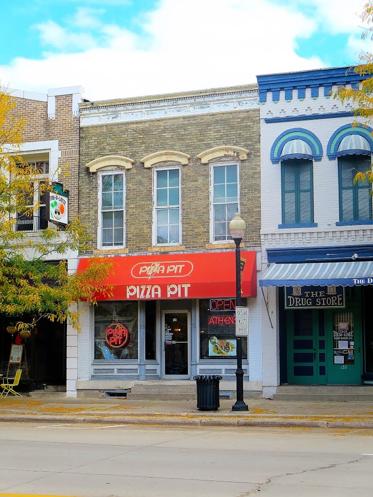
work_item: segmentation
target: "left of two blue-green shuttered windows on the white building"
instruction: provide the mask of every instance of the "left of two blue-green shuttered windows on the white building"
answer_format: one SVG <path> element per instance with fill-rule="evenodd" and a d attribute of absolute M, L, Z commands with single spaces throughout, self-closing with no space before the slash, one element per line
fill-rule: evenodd
<path fill-rule="evenodd" d="M 313 223 L 312 161 L 287 159 L 281 162 L 283 225 Z"/>

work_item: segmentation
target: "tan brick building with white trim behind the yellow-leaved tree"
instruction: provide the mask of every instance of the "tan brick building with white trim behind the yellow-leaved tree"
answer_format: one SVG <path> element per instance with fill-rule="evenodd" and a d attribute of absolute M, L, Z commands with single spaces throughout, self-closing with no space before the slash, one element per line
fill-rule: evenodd
<path fill-rule="evenodd" d="M 20 155 L 24 161 L 35 163 L 40 175 L 35 178 L 34 198 L 40 200 L 34 216 L 17 216 L 15 230 L 25 237 L 38 238 L 41 230 L 48 226 L 44 197 L 40 197 L 38 182 L 45 179 L 63 183 L 69 190 L 69 218 L 78 215 L 79 188 L 79 102 L 80 86 L 54 88 L 47 94 L 8 88 L 14 98 L 12 114 L 26 119 Z M 66 174 L 68 173 L 68 174 Z M 68 269 L 74 272 L 78 264 L 78 253 L 51 254 L 48 260 L 67 260 Z M 1 322 L 1 326 L 4 321 Z M 15 335 L 0 333 L 0 372 L 6 373 L 9 352 Z M 24 343 L 21 365 L 24 388 L 38 389 L 45 385 L 67 385 L 68 395 L 76 391 L 77 355 L 76 335 L 69 326 L 38 322 L 37 329 Z M 26 367 L 27 361 L 27 367 Z M 73 378 L 73 382 L 71 381 Z M 71 392 L 73 390 L 73 393 Z"/>

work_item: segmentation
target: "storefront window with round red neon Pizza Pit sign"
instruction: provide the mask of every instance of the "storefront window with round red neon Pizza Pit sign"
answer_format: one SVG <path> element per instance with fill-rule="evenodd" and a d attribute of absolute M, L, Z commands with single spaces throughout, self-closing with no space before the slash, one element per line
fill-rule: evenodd
<path fill-rule="evenodd" d="M 94 308 L 94 358 L 137 359 L 137 302 L 98 302 Z"/>

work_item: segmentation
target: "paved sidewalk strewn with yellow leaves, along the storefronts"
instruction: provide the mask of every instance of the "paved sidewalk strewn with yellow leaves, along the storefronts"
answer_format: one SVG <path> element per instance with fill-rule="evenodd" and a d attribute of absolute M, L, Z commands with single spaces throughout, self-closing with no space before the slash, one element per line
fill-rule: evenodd
<path fill-rule="evenodd" d="M 246 401 L 249 411 L 232 413 L 234 400 L 215 412 L 195 401 L 23 397 L 0 398 L 0 421 L 193 426 L 373 428 L 373 402 Z"/>

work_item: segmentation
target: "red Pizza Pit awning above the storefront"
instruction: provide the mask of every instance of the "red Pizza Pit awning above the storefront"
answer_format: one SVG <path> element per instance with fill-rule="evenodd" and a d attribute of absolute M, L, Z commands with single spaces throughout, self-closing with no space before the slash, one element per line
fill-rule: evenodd
<path fill-rule="evenodd" d="M 241 295 L 256 297 L 256 251 L 241 252 Z M 105 284 L 113 297 L 100 300 L 209 299 L 235 297 L 235 253 L 208 252 L 110 257 L 114 271 Z M 82 258 L 78 271 L 92 258 Z"/>

